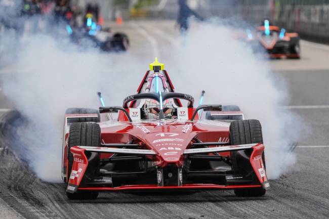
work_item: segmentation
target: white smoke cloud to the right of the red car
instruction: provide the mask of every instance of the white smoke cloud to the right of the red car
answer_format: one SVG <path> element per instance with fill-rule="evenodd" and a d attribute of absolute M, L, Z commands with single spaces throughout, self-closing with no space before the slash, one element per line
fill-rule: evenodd
<path fill-rule="evenodd" d="M 260 120 L 267 174 L 276 179 L 296 161 L 291 145 L 301 135 L 302 121 L 293 112 L 278 109 L 287 105 L 289 94 L 265 54 L 255 55 L 236 36 L 235 29 L 224 25 L 194 26 L 185 45 L 171 53 L 177 61 L 171 77 L 179 92 L 197 98 L 205 90 L 204 103 L 238 105 L 246 119 Z"/>

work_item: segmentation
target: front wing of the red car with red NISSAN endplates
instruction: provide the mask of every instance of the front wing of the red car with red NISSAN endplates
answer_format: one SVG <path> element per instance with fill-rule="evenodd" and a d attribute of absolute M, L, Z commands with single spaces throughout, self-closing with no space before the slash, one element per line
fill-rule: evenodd
<path fill-rule="evenodd" d="M 136 157 L 153 157 L 156 159 L 161 159 L 153 150 L 142 150 L 142 149 L 119 149 L 119 148 L 106 148 L 106 147 L 88 147 L 88 146 L 74 146 L 71 149 L 73 154 L 73 165 L 70 177 L 68 179 L 68 186 L 66 191 L 68 193 L 75 193 L 77 191 L 123 191 L 123 190 L 204 190 L 204 189 L 240 189 L 240 188 L 264 188 L 269 189 L 269 183 L 266 176 L 265 166 L 263 163 L 263 144 L 247 144 L 247 145 L 234 145 L 234 146 L 221 146 L 221 147 L 209 147 L 209 148 L 198 148 L 198 149 L 186 149 L 183 154 L 183 159 L 192 158 L 192 156 L 198 156 L 198 158 L 208 157 L 207 154 L 217 153 L 217 152 L 238 152 L 243 156 L 250 154 L 248 162 L 252 169 L 252 174 L 254 176 L 252 181 L 245 180 L 244 177 L 235 176 L 230 172 L 220 172 L 214 170 L 204 170 L 204 171 L 186 171 L 182 166 L 175 167 L 177 176 L 173 177 L 174 180 L 169 180 L 166 184 L 166 179 L 164 179 L 168 171 L 165 168 L 155 167 L 154 183 L 143 184 L 143 183 L 124 183 L 122 185 L 115 185 L 115 176 L 122 176 L 127 174 L 135 174 L 136 176 L 144 176 L 146 171 L 129 171 L 129 172 L 109 172 L 108 176 L 95 177 L 91 172 L 95 172 L 95 162 L 93 161 L 92 154 L 94 153 L 111 153 L 128 155 L 125 158 L 136 159 Z M 88 157 L 87 157 L 87 155 Z M 135 156 L 132 156 L 135 155 Z M 120 158 L 120 157 L 119 157 Z M 121 157 L 124 158 L 124 157 Z M 195 158 L 195 157 L 194 157 Z M 173 167 L 171 167 L 173 168 Z M 175 173 L 174 171 L 174 173 Z M 173 172 L 173 171 L 171 171 Z M 214 174 L 217 178 L 219 176 L 225 175 L 225 181 L 221 183 L 209 183 L 209 180 L 204 180 L 204 182 L 191 182 L 184 179 L 183 176 L 188 176 L 187 174 L 198 174 L 207 179 L 206 176 Z M 217 179 L 216 178 L 216 179 Z M 135 181 L 134 181 L 135 182 Z M 136 181 L 137 182 L 137 181 Z"/>

